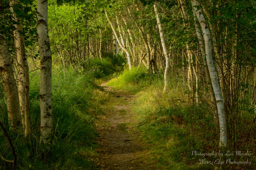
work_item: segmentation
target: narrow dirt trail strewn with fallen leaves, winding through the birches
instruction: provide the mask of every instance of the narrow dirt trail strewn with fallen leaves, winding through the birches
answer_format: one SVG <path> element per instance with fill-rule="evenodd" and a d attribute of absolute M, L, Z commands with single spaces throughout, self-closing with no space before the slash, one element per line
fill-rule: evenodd
<path fill-rule="evenodd" d="M 150 145 L 143 141 L 136 126 L 140 123 L 132 113 L 136 96 L 122 89 L 113 89 L 101 83 L 110 92 L 110 99 L 104 103 L 105 114 L 98 117 L 96 130 L 99 133 L 98 169 L 155 170 L 157 161 L 149 154 Z"/>

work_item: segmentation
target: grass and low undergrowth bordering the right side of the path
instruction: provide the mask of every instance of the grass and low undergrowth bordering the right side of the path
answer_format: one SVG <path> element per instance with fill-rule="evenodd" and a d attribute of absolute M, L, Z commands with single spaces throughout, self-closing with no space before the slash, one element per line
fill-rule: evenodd
<path fill-rule="evenodd" d="M 219 148 L 219 125 L 214 123 L 206 95 L 200 96 L 200 103 L 194 103 L 182 78 L 170 78 L 165 93 L 162 76 L 148 75 L 144 69 L 124 70 L 122 74 L 114 75 L 108 84 L 131 90 L 139 96 L 133 113 L 140 119 L 138 128 L 152 146 L 151 154 L 159 161 L 158 167 L 175 170 L 253 169 L 255 147 L 247 143 L 237 148 L 231 145 Z M 238 122 L 237 127 L 244 123 Z M 247 133 L 242 128 L 239 130 L 240 136 Z M 249 155 L 236 155 L 237 151 Z M 244 161 L 248 163 L 242 164 Z"/>

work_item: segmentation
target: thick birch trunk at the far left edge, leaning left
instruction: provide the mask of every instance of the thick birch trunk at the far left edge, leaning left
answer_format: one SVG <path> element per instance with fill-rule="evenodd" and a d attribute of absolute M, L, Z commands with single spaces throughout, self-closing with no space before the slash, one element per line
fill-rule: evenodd
<path fill-rule="evenodd" d="M 0 33 L 0 75 L 6 97 L 7 112 L 10 129 L 18 131 L 22 126 L 20 116 L 20 103 L 16 81 L 13 75 L 13 67 L 4 35 Z"/>

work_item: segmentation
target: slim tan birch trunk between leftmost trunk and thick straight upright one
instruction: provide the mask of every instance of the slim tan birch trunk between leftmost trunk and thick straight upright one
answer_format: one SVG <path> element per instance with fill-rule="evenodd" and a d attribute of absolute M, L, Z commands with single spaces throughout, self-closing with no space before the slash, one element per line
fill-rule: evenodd
<path fill-rule="evenodd" d="M 17 0 L 11 1 L 12 19 L 19 25 L 14 24 L 15 30 L 13 31 L 14 44 L 17 58 L 17 75 L 18 75 L 18 94 L 20 101 L 20 113 L 22 118 L 22 124 L 25 129 L 25 138 L 28 145 L 31 145 L 30 134 L 30 113 L 29 113 L 29 68 L 28 60 L 25 52 L 25 41 L 23 37 L 23 29 L 20 18 L 14 13 L 13 5 L 18 4 Z"/>

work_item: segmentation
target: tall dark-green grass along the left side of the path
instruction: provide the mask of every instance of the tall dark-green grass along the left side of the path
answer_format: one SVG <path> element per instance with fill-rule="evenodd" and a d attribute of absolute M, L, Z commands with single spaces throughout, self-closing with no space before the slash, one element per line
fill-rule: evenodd
<path fill-rule="evenodd" d="M 40 75 L 32 72 L 30 84 L 30 118 L 32 126 L 32 147 L 24 144 L 22 135 L 12 136 L 18 155 L 20 169 L 92 169 L 92 148 L 96 145 L 96 131 L 93 121 L 96 114 L 103 112 L 100 103 L 108 93 L 100 91 L 95 72 L 77 73 L 74 69 L 66 69 L 66 76 L 59 67 L 52 69 L 52 114 L 53 143 L 48 156 L 44 156 L 40 144 Z M 6 119 L 7 114 L 2 119 Z M 5 121 L 7 122 L 7 121 Z M 7 125 L 7 124 L 6 124 Z M 0 131 L 0 136 L 2 131 Z M 5 138 L 0 137 L 1 153 L 8 148 Z M 2 152 L 3 151 L 3 152 Z M 5 158 L 12 160 L 10 148 Z M 1 163 L 1 168 L 10 165 Z"/>

